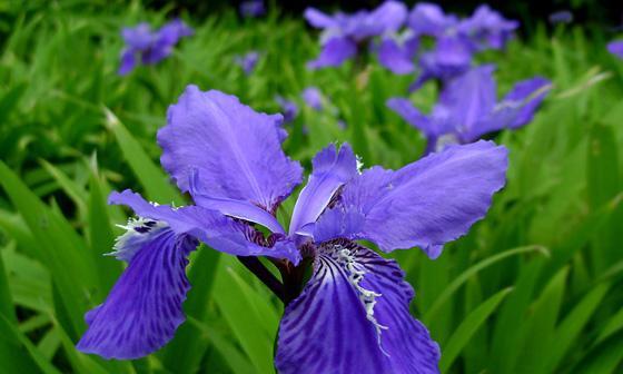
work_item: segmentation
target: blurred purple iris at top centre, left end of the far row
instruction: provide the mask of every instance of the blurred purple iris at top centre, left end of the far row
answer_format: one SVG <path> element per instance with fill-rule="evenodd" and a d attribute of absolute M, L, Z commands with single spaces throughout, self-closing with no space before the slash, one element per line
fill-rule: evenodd
<path fill-rule="evenodd" d="M 374 38 L 396 32 L 405 22 L 407 8 L 404 3 L 388 0 L 373 11 L 343 12 L 328 16 L 317 9 L 305 10 L 305 19 L 315 28 L 323 29 L 322 51 L 309 61 L 312 69 L 337 67 L 354 58 Z"/>

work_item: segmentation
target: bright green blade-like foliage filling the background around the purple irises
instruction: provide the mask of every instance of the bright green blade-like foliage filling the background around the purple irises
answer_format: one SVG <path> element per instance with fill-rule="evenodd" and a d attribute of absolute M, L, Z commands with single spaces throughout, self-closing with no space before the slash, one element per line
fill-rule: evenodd
<path fill-rule="evenodd" d="M 301 114 L 285 147 L 305 166 L 335 140 L 350 142 L 367 166 L 397 168 L 419 157 L 423 137 L 385 106 L 413 77 L 374 60 L 363 71 L 348 63 L 308 71 L 317 32 L 294 8 L 240 19 L 222 3 L 214 11 L 138 1 L 0 3 L 0 373 L 274 371 L 283 307 L 215 250 L 194 254 L 189 318 L 167 347 L 106 362 L 73 345 L 83 313 L 122 269 L 102 256 L 127 218 L 106 205 L 108 193 L 132 188 L 185 204 L 159 167 L 155 134 L 188 83 L 268 112 L 279 110 L 276 95 L 297 101 Z M 119 77 L 120 29 L 175 16 L 196 35 L 161 63 Z M 394 255 L 416 291 L 413 314 L 442 346 L 444 372 L 623 371 L 623 61 L 605 50 L 616 35 L 615 23 L 604 23 L 613 18 L 553 27 L 543 14 L 505 52 L 479 57 L 497 63 L 500 92 L 534 75 L 554 89 L 532 124 L 496 137 L 511 165 L 486 219 L 435 262 L 417 249 Z M 234 58 L 251 49 L 261 59 L 247 77 Z M 303 105 L 307 86 L 322 89 L 329 110 Z M 435 87 L 411 98 L 431 107 Z M 284 213 L 293 206 L 290 198 Z"/>

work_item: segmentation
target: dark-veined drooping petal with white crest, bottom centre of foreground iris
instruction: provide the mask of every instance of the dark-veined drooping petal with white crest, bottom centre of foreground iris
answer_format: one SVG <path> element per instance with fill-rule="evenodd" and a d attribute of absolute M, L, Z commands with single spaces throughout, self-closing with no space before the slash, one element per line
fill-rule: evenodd
<path fill-rule="evenodd" d="M 438 373 L 438 346 L 409 314 L 413 291 L 392 262 L 352 242 L 327 244 L 285 311 L 279 373 Z"/>

